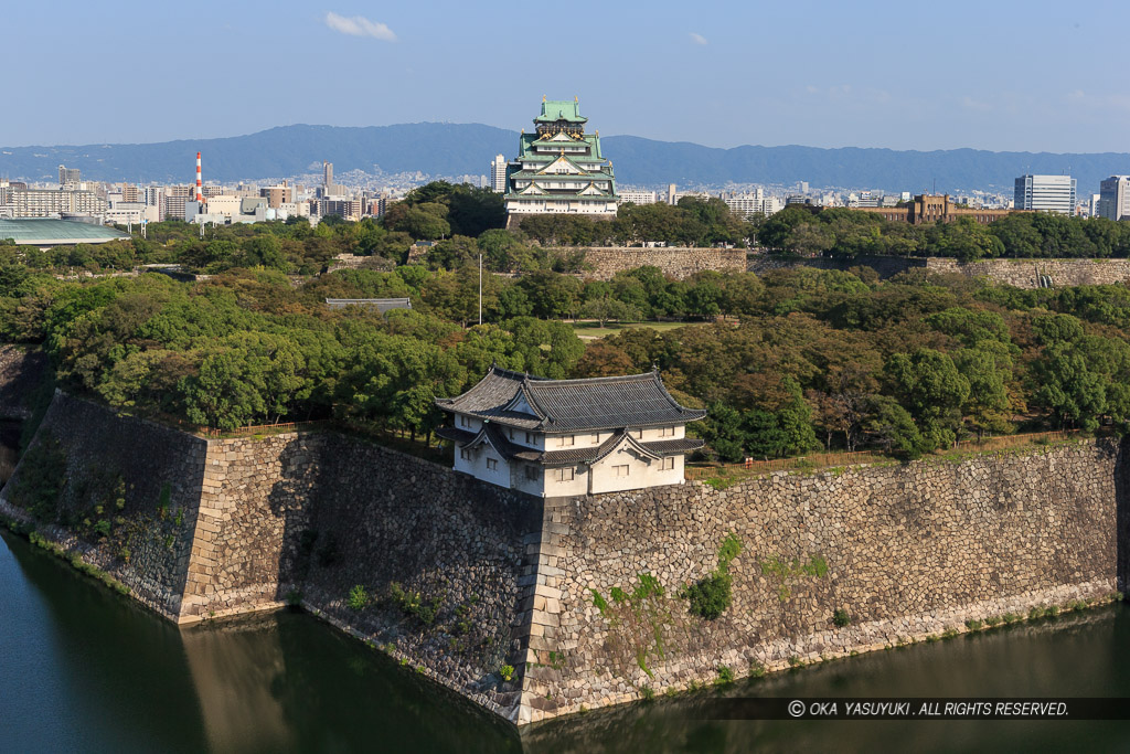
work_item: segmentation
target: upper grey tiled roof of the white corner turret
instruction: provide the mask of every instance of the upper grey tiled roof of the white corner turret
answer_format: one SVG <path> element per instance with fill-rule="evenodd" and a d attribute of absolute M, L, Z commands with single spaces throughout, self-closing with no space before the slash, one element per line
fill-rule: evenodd
<path fill-rule="evenodd" d="M 541 432 L 617 430 L 695 422 L 706 411 L 680 406 L 659 371 L 585 380 L 547 380 L 492 366 L 475 387 L 441 398 L 442 410 Z"/>

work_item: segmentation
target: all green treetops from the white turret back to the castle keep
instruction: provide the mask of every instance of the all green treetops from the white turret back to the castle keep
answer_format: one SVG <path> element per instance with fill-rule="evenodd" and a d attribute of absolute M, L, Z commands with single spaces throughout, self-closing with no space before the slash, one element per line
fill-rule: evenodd
<path fill-rule="evenodd" d="M 925 270 L 879 280 L 867 267 L 684 280 L 641 267 L 602 281 L 585 278 L 583 253 L 549 245 L 588 243 L 575 234 L 596 227 L 626 234 L 615 242 L 695 244 L 756 229 L 770 246 L 812 251 L 798 240 L 817 239 L 845 257 L 1109 255 L 1127 253 L 1124 224 L 1016 215 L 912 227 L 788 208 L 754 228 L 718 200 L 625 206 L 597 224 L 539 218 L 518 232 L 499 218 L 497 194 L 434 183 L 382 222 L 296 219 L 208 228 L 203 240 L 162 223 L 146 240 L 97 246 L 0 244 L 0 340 L 42 344 L 68 389 L 221 428 L 348 417 L 427 436 L 434 398 L 492 362 L 553 378 L 658 364 L 680 399 L 710 408 L 692 431 L 723 460 L 860 445 L 916 456 L 983 433 L 1130 421 L 1125 286 L 1020 291 Z M 420 240 L 435 243 L 403 263 Z M 320 274 L 346 252 L 367 259 Z M 115 272 L 169 262 L 210 277 Z M 324 305 L 400 296 L 412 310 L 386 318 Z M 585 343 L 560 321 L 576 318 L 688 324 Z"/>

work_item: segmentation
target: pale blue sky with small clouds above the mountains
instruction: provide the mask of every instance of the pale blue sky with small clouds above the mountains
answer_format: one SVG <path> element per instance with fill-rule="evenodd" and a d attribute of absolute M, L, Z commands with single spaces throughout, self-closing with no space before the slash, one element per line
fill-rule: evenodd
<path fill-rule="evenodd" d="M 320 2 L 9 3 L 0 146 L 516 130 L 579 95 L 601 133 L 720 147 L 1130 151 L 1124 0 Z"/>

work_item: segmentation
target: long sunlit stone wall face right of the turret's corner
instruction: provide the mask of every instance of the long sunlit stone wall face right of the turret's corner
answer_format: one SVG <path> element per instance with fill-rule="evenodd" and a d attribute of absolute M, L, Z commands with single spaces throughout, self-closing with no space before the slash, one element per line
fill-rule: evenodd
<path fill-rule="evenodd" d="M 722 665 L 740 676 L 754 660 L 781 668 L 1107 595 L 1119 459 L 1113 442 L 1083 442 L 547 502 L 555 534 L 542 548 L 549 570 L 534 622 L 545 627 L 525 658 L 527 713 L 538 720 L 638 699 L 643 686 L 709 684 Z M 718 566 L 730 532 L 742 546 L 730 565 L 732 605 L 714 621 L 690 615 L 679 589 Z M 663 595 L 633 598 L 640 574 Z M 849 626 L 834 625 L 837 609 Z"/>

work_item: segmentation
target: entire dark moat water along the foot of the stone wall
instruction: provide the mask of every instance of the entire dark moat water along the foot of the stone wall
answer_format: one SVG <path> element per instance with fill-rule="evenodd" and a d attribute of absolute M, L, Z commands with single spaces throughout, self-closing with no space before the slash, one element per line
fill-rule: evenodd
<path fill-rule="evenodd" d="M 1130 697 L 1130 606 L 812 666 L 727 694 Z M 713 691 L 521 736 L 315 618 L 177 629 L 0 537 L 0 751 L 1123 751 L 1121 721 L 716 721 Z M 1128 710 L 1130 717 L 1130 710 Z"/>

